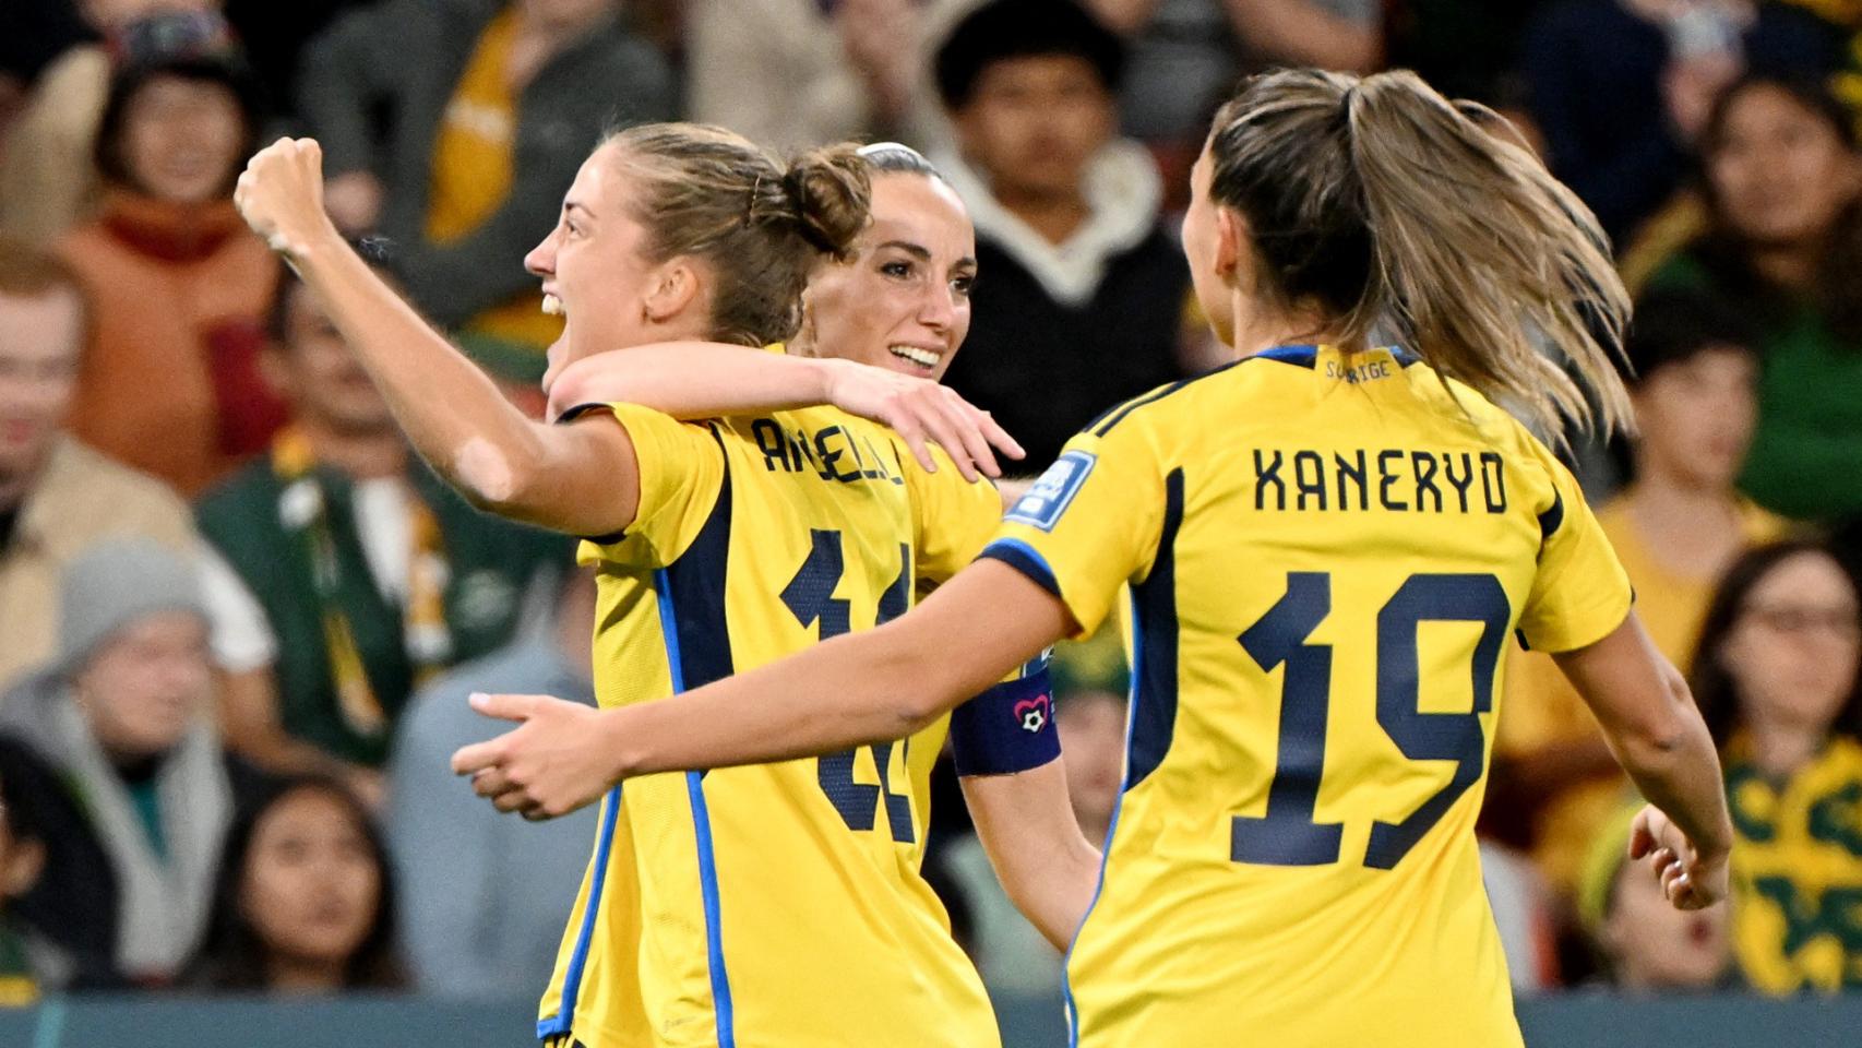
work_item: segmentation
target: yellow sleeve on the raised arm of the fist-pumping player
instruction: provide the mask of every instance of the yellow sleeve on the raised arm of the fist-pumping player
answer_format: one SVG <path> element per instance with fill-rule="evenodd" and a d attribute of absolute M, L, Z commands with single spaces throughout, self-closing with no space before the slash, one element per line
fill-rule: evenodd
<path fill-rule="evenodd" d="M 724 490 L 724 449 L 709 424 L 680 423 L 639 404 L 603 404 L 627 430 L 641 469 L 641 504 L 626 531 L 588 538 L 579 560 L 665 568 L 698 538 Z"/>

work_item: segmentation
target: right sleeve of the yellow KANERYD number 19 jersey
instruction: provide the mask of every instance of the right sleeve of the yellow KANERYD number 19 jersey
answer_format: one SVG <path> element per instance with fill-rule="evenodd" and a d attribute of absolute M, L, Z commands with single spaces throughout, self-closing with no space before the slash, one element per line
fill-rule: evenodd
<path fill-rule="evenodd" d="M 1551 452 L 1540 449 L 1540 456 L 1551 473 L 1551 495 L 1538 506 L 1538 575 L 1519 616 L 1519 637 L 1534 652 L 1575 652 L 1629 618 L 1633 590 L 1577 478 Z"/>

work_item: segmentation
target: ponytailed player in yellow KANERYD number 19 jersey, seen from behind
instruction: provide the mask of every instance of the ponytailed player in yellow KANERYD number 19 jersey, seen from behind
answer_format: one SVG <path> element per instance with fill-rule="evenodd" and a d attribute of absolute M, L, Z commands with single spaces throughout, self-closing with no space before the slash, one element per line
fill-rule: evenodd
<path fill-rule="evenodd" d="M 890 739 L 1132 583 L 1134 709 L 1069 957 L 1093 1046 L 1519 1044 L 1475 817 L 1508 637 L 1555 652 L 1652 806 L 1670 901 L 1726 890 L 1711 739 L 1577 484 L 1512 417 L 1626 410 L 1594 218 L 1408 73 L 1285 71 L 1218 115 L 1184 249 L 1238 361 L 1082 432 L 985 558 L 858 638 L 587 717 L 536 696 L 467 746 L 497 804 Z M 1400 348 L 1370 344 L 1389 324 Z"/>

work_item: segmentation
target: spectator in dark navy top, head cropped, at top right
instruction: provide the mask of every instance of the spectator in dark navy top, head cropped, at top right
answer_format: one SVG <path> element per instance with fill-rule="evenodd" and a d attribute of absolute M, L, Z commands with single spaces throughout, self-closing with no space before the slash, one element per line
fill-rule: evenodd
<path fill-rule="evenodd" d="M 1840 58 L 1828 24 L 1773 0 L 1564 0 L 1523 47 L 1551 171 L 1618 242 L 1680 188 L 1741 73 L 1812 78 Z"/>

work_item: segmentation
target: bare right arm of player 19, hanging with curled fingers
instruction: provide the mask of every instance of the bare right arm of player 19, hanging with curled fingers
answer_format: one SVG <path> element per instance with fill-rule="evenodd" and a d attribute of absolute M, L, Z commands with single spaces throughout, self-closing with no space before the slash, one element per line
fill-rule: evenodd
<path fill-rule="evenodd" d="M 1555 659 L 1650 800 L 1631 828 L 1629 858 L 1650 860 L 1678 908 L 1722 899 L 1734 828 L 1720 759 L 1687 679 L 1655 650 L 1635 612 L 1603 640 Z"/>

